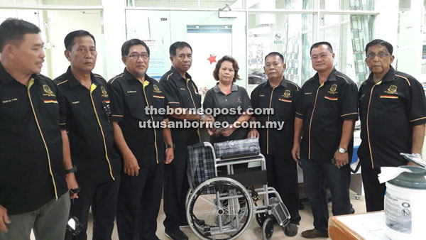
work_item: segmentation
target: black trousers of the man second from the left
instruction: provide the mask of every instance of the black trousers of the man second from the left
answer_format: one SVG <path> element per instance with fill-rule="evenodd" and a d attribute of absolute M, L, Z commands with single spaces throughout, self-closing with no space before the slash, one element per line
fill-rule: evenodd
<path fill-rule="evenodd" d="M 78 236 L 72 236 L 67 231 L 65 239 L 87 239 L 87 218 L 92 206 L 93 236 L 94 240 L 111 239 L 116 217 L 117 195 L 119 193 L 120 177 L 115 181 L 92 184 L 90 182 L 78 182 L 80 192 L 78 198 L 71 200 L 70 215 L 77 217 L 84 226 L 84 231 Z"/>

